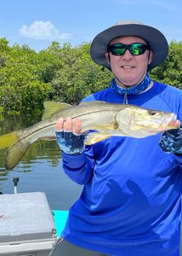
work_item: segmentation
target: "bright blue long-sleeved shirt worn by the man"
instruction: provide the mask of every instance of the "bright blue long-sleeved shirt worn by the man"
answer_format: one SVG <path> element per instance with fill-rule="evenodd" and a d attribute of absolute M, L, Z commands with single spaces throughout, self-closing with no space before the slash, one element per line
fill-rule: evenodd
<path fill-rule="evenodd" d="M 108 88 L 84 101 L 122 103 Z M 128 103 L 176 113 L 182 120 L 182 93 L 154 82 Z M 83 184 L 62 236 L 88 249 L 121 256 L 179 256 L 182 157 L 161 150 L 162 134 L 110 137 L 80 155 L 63 155 L 65 173 Z"/>

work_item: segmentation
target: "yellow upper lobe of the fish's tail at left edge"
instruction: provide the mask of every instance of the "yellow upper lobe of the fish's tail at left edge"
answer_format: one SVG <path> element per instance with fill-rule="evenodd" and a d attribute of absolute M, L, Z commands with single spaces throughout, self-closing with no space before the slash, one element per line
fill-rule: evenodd
<path fill-rule="evenodd" d="M 16 131 L 10 132 L 0 137 L 0 149 L 9 148 L 17 143 L 19 140 L 18 133 Z"/>

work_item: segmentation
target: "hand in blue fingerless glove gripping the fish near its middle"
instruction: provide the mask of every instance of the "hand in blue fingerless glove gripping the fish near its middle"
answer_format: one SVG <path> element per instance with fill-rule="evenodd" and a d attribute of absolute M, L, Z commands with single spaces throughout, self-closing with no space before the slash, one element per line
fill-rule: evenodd
<path fill-rule="evenodd" d="M 80 119 L 60 118 L 57 125 L 55 135 L 60 149 L 65 154 L 82 154 L 85 148 L 84 141 L 86 135 L 82 134 L 82 124 Z"/>

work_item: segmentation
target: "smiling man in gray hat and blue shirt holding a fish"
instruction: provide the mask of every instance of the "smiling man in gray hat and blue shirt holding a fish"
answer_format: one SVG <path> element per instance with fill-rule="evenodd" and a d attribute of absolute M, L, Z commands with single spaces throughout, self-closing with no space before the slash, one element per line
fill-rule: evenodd
<path fill-rule="evenodd" d="M 167 55 L 162 32 L 118 22 L 91 44 L 93 60 L 114 75 L 111 86 L 83 101 L 129 103 L 181 119 L 181 90 L 147 73 Z M 143 139 L 110 137 L 85 147 L 81 121 L 60 119 L 56 135 L 65 173 L 84 186 L 51 255 L 179 256 L 181 130 Z"/>

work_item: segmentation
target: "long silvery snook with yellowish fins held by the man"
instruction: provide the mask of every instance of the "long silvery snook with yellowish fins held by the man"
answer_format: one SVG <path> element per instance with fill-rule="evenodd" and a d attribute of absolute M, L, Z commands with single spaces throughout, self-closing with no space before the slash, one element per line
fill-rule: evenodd
<path fill-rule="evenodd" d="M 71 106 L 64 102 L 44 102 L 44 108 L 43 118 L 37 124 L 0 137 L 0 149 L 8 148 L 4 165 L 7 170 L 17 166 L 32 143 L 39 139 L 56 139 L 56 124 L 60 117 L 81 119 L 82 133 L 88 133 L 87 145 L 99 143 L 112 136 L 149 137 L 176 129 L 180 124 L 174 113 L 129 104 L 94 101 Z"/>

